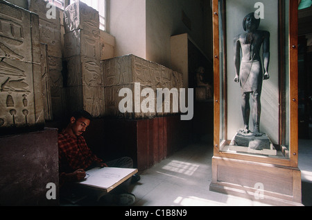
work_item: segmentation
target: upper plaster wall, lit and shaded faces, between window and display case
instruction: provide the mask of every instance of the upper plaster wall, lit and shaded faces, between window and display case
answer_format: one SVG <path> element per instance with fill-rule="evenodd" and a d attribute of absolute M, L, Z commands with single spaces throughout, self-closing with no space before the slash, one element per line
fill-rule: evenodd
<path fill-rule="evenodd" d="M 170 37 L 189 33 L 210 58 L 212 33 L 209 31 L 209 2 L 110 1 L 110 34 L 116 37 L 115 56 L 131 53 L 171 68 Z"/>

